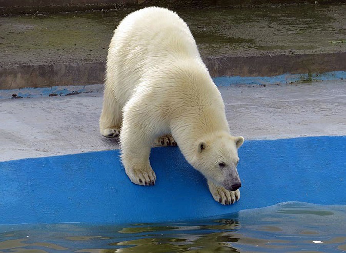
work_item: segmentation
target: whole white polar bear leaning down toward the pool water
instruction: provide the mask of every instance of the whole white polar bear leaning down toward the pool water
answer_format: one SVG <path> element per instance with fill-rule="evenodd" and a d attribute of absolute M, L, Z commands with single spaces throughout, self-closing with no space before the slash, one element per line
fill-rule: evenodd
<path fill-rule="evenodd" d="M 119 137 L 121 161 L 133 183 L 155 184 L 153 144 L 177 144 L 206 177 L 217 202 L 239 200 L 237 149 L 244 139 L 230 134 L 220 92 L 175 12 L 141 9 L 114 31 L 99 126 L 105 137 Z"/>

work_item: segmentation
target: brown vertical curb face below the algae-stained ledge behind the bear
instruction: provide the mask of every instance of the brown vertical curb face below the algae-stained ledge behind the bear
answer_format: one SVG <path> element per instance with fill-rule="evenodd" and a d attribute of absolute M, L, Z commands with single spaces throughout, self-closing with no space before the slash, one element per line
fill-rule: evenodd
<path fill-rule="evenodd" d="M 203 59 L 212 77 L 276 76 L 346 70 L 346 52 L 207 57 Z M 105 63 L 0 66 L 0 89 L 101 84 Z"/>

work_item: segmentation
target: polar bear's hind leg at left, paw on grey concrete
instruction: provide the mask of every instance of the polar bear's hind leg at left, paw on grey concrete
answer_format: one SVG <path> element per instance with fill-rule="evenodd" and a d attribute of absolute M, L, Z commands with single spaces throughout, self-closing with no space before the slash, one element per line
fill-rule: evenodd
<path fill-rule="evenodd" d="M 121 128 L 121 107 L 113 91 L 106 85 L 104 103 L 99 120 L 100 133 L 104 137 L 118 138 Z"/>

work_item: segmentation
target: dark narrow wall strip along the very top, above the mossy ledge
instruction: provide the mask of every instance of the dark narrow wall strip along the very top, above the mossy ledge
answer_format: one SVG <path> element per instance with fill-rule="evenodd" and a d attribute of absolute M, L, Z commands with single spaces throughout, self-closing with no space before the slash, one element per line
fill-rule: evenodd
<path fill-rule="evenodd" d="M 318 4 L 345 3 L 345 0 L 318 0 Z M 286 4 L 316 4 L 315 0 L 0 0 L 0 14 L 57 13 L 88 10 L 160 6 L 171 9 L 202 7 L 254 7 Z"/>

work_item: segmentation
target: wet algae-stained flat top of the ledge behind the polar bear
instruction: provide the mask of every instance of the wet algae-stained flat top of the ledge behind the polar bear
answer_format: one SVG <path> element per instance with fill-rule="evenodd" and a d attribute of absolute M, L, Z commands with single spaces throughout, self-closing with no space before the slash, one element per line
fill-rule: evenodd
<path fill-rule="evenodd" d="M 133 10 L 0 17 L 0 66 L 106 60 Z M 346 5 L 181 10 L 203 57 L 345 52 Z"/>

